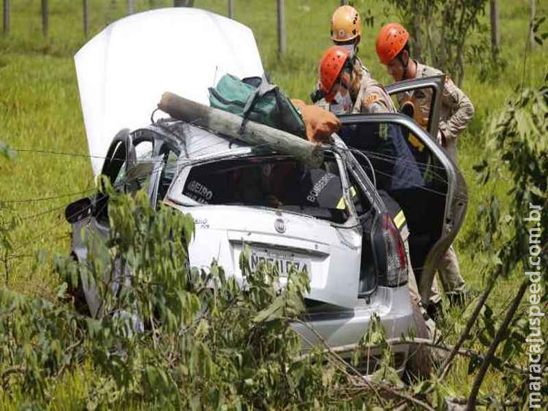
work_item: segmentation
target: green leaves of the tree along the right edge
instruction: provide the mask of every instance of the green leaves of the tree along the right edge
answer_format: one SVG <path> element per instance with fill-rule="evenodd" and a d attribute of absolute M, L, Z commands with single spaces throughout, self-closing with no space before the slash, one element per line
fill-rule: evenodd
<path fill-rule="evenodd" d="M 542 21 L 538 25 L 540 23 Z M 483 160 L 475 166 L 475 171 L 484 184 L 488 181 L 488 175 L 491 179 L 494 179 L 493 176 L 497 179 L 510 179 L 513 184 L 508 192 L 510 210 L 507 214 L 501 212 L 495 195 L 483 201 L 477 214 L 477 232 L 483 233 L 477 236 L 482 239 L 477 262 L 493 278 L 499 274 L 519 273 L 523 276 L 523 271 L 532 271 L 528 259 L 532 227 L 540 229 L 539 243 L 548 243 L 548 213 L 540 212 L 548 198 L 547 102 L 548 75 L 545 77 L 545 84 L 539 88 L 516 90 L 503 112 L 490 123 L 486 153 L 490 160 Z M 533 220 L 530 219 L 532 215 L 535 217 Z M 540 253 L 539 259 L 540 265 L 548 264 L 546 254 Z M 546 284 L 546 278 L 543 281 Z M 500 332 L 500 319 L 506 314 L 504 311 L 495 314 L 489 306 L 485 306 L 477 323 L 475 341 L 483 347 L 491 347 L 495 336 Z M 493 357 L 490 365 L 502 373 L 501 380 L 506 390 L 502 398 L 521 402 L 520 396 L 527 392 L 527 387 L 523 386 L 526 379 L 516 369 L 520 370 L 523 364 L 524 349 L 527 347 L 523 341 L 530 332 L 527 311 L 518 310 L 512 324 L 502 332 L 501 348 L 497 350 L 497 356 Z M 468 372 L 476 373 L 483 361 L 478 356 L 471 356 Z M 546 366 L 546 362 L 543 362 L 543 366 Z M 508 369 L 512 369 L 512 372 L 509 373 Z"/>

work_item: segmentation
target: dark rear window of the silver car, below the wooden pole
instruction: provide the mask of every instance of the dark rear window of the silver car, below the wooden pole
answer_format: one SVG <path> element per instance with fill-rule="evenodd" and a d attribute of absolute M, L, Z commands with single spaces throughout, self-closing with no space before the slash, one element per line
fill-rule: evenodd
<path fill-rule="evenodd" d="M 343 223 L 347 208 L 332 153 L 317 169 L 292 157 L 249 156 L 192 166 L 182 194 L 191 203 L 260 206 Z"/>

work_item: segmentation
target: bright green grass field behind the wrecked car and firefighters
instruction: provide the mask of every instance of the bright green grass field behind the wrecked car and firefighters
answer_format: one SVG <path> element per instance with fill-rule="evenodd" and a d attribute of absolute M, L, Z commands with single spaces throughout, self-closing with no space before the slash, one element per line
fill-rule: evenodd
<path fill-rule="evenodd" d="M 93 188 L 90 162 L 86 155 L 87 143 L 84 122 L 80 111 L 77 82 L 72 56 L 86 39 L 82 29 L 82 2 L 51 0 L 50 34 L 43 38 L 40 1 L 12 1 L 11 34 L 0 36 L 0 141 L 16 149 L 44 149 L 74 155 L 55 155 L 20 151 L 14 161 L 0 158 L 0 201 L 15 201 L 55 197 Z M 116 10 L 110 0 L 90 1 L 90 36 L 97 34 L 105 25 L 125 13 L 126 2 L 117 1 Z M 157 7 L 172 1 L 156 0 Z M 286 1 L 286 26 L 288 51 L 284 60 L 277 60 L 277 33 L 275 1 L 235 1 L 234 18 L 253 29 L 264 67 L 271 73 L 273 82 L 279 84 L 290 97 L 308 100 L 316 83 L 316 67 L 321 53 L 329 47 L 329 16 L 339 1 Z M 358 5 L 365 2 L 357 1 Z M 519 214 L 521 210 L 509 210 L 506 192 L 512 182 L 502 179 L 490 186 L 475 182 L 473 165 L 486 155 L 485 127 L 493 114 L 500 110 L 512 95 L 514 88 L 523 81 L 538 85 L 548 73 L 547 47 L 534 47 L 527 57 L 523 77 L 523 55 L 527 38 L 528 1 L 499 1 L 501 5 L 501 57 L 506 62 L 499 77 L 489 82 L 479 81 L 482 62 L 466 66 L 463 90 L 473 101 L 476 115 L 469 129 L 459 138 L 459 163 L 469 184 L 470 202 L 468 218 L 456 249 L 460 256 L 462 273 L 469 284 L 482 288 L 479 262 L 473 260 L 469 248 L 469 236 L 477 229 L 475 214 L 490 190 L 506 199 L 502 212 Z M 196 0 L 195 6 L 227 14 L 225 0 Z M 360 55 L 374 77 L 388 82 L 384 67 L 377 62 L 374 42 L 380 25 L 395 18 L 384 14 L 384 5 L 368 3 L 375 16 L 374 27 L 364 27 Z M 136 1 L 136 9 L 147 10 L 149 1 Z M 537 13 L 548 14 L 548 5 L 537 2 Z M 488 18 L 487 16 L 484 17 Z M 23 216 L 23 222 L 14 232 L 15 253 L 10 260 L 10 271 L 0 269 L 0 284 L 5 284 L 27 294 L 48 297 L 59 279 L 51 266 L 39 266 L 33 258 L 39 250 L 62 254 L 69 252 L 70 227 L 64 221 L 64 206 L 82 195 L 68 195 L 50 201 L 12 202 L 13 212 Z M 2 212 L 7 212 L 3 210 Z M 519 282 L 519 274 L 497 286 L 495 307 L 502 307 Z M 462 326 L 457 310 L 451 310 L 449 323 L 454 333 Z M 459 363 L 449 376 L 451 394 L 466 395 L 473 375 L 466 375 L 465 362 Z M 86 376 L 92 371 L 86 368 L 82 375 L 67 376 L 62 384 L 75 397 L 86 397 Z M 488 377 L 486 390 L 499 390 L 496 379 Z M 65 392 L 61 390 L 60 393 Z M 64 402 L 68 397 L 58 393 L 61 400 L 53 402 L 53 409 L 78 408 Z M 24 395 L 14 399 L 23 403 Z M 10 405 L 11 404 L 11 405 Z M 0 408 L 13 403 L 0 394 Z"/>

